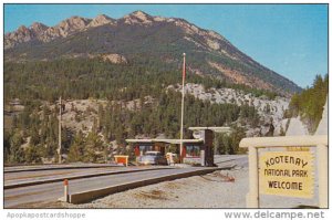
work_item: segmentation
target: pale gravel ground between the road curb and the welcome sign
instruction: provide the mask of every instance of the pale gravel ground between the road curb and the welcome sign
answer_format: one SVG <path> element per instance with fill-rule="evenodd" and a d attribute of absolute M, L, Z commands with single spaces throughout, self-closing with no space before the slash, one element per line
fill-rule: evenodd
<path fill-rule="evenodd" d="M 248 174 L 222 170 L 118 192 L 66 208 L 245 208 Z"/>

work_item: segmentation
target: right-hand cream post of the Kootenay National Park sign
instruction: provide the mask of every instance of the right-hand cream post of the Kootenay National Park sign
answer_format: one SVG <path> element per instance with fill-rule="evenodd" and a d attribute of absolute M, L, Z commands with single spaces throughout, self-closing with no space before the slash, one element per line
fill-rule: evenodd
<path fill-rule="evenodd" d="M 329 208 L 329 174 L 328 174 L 328 146 L 318 145 L 318 172 L 319 172 L 319 207 L 322 209 Z"/>

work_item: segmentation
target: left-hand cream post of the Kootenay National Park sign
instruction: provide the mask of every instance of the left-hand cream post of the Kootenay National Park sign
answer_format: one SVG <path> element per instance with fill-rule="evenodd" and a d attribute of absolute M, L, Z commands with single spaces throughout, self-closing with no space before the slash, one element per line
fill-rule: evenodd
<path fill-rule="evenodd" d="M 259 208 L 258 149 L 249 147 L 249 192 L 247 208 Z"/>

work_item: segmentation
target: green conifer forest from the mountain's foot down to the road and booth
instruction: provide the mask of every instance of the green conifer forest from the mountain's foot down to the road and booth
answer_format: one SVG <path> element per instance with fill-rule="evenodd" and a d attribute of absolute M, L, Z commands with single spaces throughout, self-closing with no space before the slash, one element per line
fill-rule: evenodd
<path fill-rule="evenodd" d="M 97 59 L 6 63 L 4 103 L 9 105 L 19 98 L 24 106 L 19 114 L 8 109 L 12 123 L 4 133 L 6 161 L 40 163 L 41 158 L 56 158 L 59 106 L 55 102 L 59 96 L 64 102 L 103 99 L 105 103 L 89 108 L 86 113 L 75 105 L 65 109 L 75 113 L 73 123 L 94 114 L 92 128 L 73 129 L 63 124 L 63 153 L 69 154 L 71 161 L 104 161 L 110 153 L 110 143 L 115 140 L 116 146 L 123 147 L 125 138 L 137 135 L 155 137 L 165 134 L 169 138 L 178 138 L 180 93 L 166 88 L 180 78 L 178 70 L 167 69 L 163 63 L 122 65 Z M 203 84 L 206 90 L 229 86 L 257 96 L 267 94 L 274 97 L 270 92 L 231 85 L 190 72 L 187 82 Z M 240 118 L 258 126 L 253 106 L 212 104 L 191 95 L 186 95 L 185 99 L 185 127 L 232 125 Z M 132 101 L 135 102 L 128 108 L 126 102 Z M 243 135 L 243 132 L 240 134 Z M 188 130 L 186 137 L 190 137 Z"/>

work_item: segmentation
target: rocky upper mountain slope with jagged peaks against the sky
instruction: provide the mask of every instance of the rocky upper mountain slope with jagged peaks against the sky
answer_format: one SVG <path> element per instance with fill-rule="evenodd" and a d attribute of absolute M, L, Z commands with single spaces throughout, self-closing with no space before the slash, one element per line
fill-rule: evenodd
<path fill-rule="evenodd" d="M 290 94 L 301 88 L 262 66 L 219 33 L 183 19 L 135 11 L 121 19 L 72 17 L 54 27 L 33 23 L 4 35 L 4 59 L 12 62 L 110 54 L 134 64 L 136 57 L 159 59 L 179 66 L 187 53 L 188 72 L 212 75 L 234 84 Z"/>

